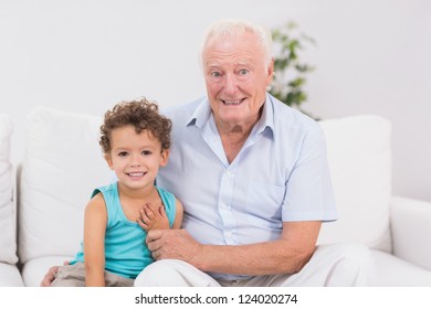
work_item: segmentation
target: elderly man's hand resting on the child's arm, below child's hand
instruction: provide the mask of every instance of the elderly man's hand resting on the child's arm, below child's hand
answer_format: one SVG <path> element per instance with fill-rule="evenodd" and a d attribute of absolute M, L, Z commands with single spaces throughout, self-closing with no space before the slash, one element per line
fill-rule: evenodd
<path fill-rule="evenodd" d="M 151 230 L 146 242 L 154 259 L 174 258 L 192 265 L 202 248 L 186 230 Z"/>

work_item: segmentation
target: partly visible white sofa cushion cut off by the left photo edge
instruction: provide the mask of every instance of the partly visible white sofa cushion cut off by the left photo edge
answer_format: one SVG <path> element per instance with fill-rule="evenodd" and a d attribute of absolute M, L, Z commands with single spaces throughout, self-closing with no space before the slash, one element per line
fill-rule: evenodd
<path fill-rule="evenodd" d="M 10 160 L 10 137 L 12 119 L 0 114 L 0 262 L 15 264 L 17 216 L 13 206 L 12 164 Z"/>

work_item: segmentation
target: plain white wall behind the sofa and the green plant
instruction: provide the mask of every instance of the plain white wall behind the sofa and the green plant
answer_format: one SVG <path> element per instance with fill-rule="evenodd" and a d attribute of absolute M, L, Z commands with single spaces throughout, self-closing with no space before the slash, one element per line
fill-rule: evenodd
<path fill-rule="evenodd" d="M 427 0 L 0 0 L 0 113 L 13 117 L 20 161 L 35 106 L 102 115 L 141 95 L 192 99 L 204 93 L 198 45 L 211 21 L 294 20 L 317 41 L 306 108 L 389 118 L 395 193 L 431 201 L 430 15 Z"/>

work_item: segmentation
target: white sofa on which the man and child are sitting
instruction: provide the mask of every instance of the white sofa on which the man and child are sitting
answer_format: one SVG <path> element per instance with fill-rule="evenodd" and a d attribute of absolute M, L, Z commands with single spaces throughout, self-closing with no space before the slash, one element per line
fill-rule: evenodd
<path fill-rule="evenodd" d="M 32 111 L 13 182 L 12 124 L 0 118 L 0 286 L 38 286 L 50 266 L 77 251 L 83 207 L 93 188 L 113 180 L 98 146 L 101 120 L 45 107 Z M 366 244 L 379 286 L 431 286 L 431 203 L 392 196 L 389 121 L 365 115 L 320 124 L 339 220 L 324 224 L 318 243 Z"/>

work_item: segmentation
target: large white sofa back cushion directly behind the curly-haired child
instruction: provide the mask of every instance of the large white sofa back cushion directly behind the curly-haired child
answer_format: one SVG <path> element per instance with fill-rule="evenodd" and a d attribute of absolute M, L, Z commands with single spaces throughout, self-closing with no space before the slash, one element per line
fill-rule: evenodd
<path fill-rule="evenodd" d="M 20 179 L 19 256 L 73 256 L 93 189 L 113 180 L 98 145 L 102 118 L 39 107 L 29 115 Z"/>

